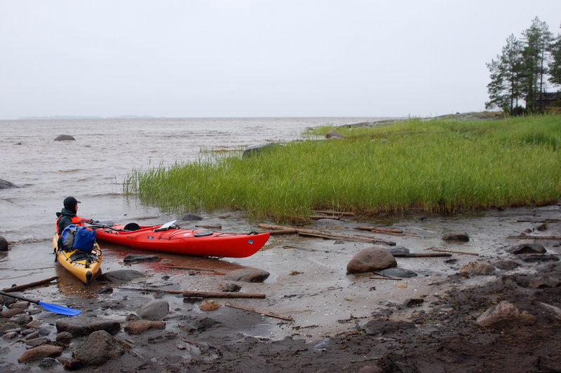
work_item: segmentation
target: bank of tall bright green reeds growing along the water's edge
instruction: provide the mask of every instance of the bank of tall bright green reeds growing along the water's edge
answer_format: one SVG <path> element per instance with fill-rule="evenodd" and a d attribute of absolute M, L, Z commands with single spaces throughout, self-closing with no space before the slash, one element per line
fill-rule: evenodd
<path fill-rule="evenodd" d="M 339 127 L 344 139 L 133 171 L 125 189 L 164 211 L 241 209 L 278 221 L 311 209 L 374 215 L 548 204 L 561 195 L 560 123 L 550 115 Z"/>

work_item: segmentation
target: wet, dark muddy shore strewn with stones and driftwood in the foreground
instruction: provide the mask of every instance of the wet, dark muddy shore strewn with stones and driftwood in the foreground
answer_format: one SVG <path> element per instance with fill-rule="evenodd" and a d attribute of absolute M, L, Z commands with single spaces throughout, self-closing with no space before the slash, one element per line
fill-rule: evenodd
<path fill-rule="evenodd" d="M 363 242 L 271 236 L 256 258 L 226 262 L 208 258 L 161 258 L 158 262 L 126 266 L 146 274 L 127 283 L 98 281 L 87 289 L 57 286 L 29 290 L 82 310 L 83 318 L 109 319 L 121 325 L 113 337 L 126 345 L 119 358 L 103 365 L 72 366 L 80 372 L 552 372 L 561 370 L 557 358 L 561 319 L 550 309 L 561 308 L 560 240 L 530 240 L 542 244 L 549 255 L 525 261 L 507 250 L 522 240 L 507 239 L 521 233 L 561 236 L 560 206 L 486 211 L 470 216 L 410 216 L 403 219 L 358 221 L 317 220 L 310 228 L 337 234 L 360 234 L 395 242 L 411 253 L 432 248 L 477 253 L 442 258 L 396 258 L 398 269 L 416 276 L 399 281 L 372 279 L 372 274 L 346 274 L 346 264 Z M 208 218 L 203 224 L 217 224 Z M 544 226 L 544 222 L 545 223 Z M 359 225 L 384 225 L 410 232 L 389 236 L 361 232 Z M 538 229 L 539 228 L 539 229 Z M 466 232 L 468 242 L 445 242 L 446 232 Z M 524 240 L 527 241 L 527 240 Z M 265 299 L 215 299 L 215 311 L 202 311 L 203 300 L 162 292 L 127 290 L 220 291 L 224 276 L 205 271 L 163 269 L 161 264 L 213 267 L 227 273 L 239 267 L 256 267 L 271 273 L 263 283 L 234 281 L 241 292 L 264 293 Z M 462 274 L 468 262 L 484 262 L 491 274 Z M 147 270 L 150 268 L 151 270 Z M 154 270 L 152 270 L 154 269 Z M 405 273 L 405 272 L 403 272 Z M 109 290 L 110 289 L 110 290 Z M 29 294 L 27 294 L 29 295 Z M 165 300 L 170 312 L 164 329 L 129 334 L 131 315 L 152 300 Z M 476 320 L 502 301 L 534 314 L 533 323 L 482 328 Z M 292 321 L 227 307 L 226 302 L 292 317 Z M 543 308 L 548 304 L 553 308 Z M 7 308 L 4 307 L 4 310 Z M 37 309 L 27 313 L 34 329 L 50 344 L 63 346 L 60 356 L 18 363 L 29 349 L 22 332 L 0 339 L 0 368 L 6 372 L 65 371 L 63 363 L 88 337 L 69 343 L 56 341 L 60 316 Z M 2 319 L 4 320 L 4 318 Z M 22 326 L 21 330 L 29 329 Z"/>

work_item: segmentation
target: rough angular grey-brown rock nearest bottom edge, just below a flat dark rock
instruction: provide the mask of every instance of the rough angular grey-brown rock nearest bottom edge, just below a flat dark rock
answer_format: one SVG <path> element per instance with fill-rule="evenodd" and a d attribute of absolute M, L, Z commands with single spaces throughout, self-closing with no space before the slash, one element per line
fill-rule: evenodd
<path fill-rule="evenodd" d="M 118 359 L 125 353 L 126 345 L 104 330 L 93 332 L 72 356 L 83 365 L 102 365 L 107 360 Z"/>

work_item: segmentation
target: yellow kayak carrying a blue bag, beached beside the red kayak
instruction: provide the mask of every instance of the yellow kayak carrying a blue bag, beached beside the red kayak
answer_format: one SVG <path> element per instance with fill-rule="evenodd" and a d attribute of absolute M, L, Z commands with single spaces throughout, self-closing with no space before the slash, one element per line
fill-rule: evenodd
<path fill-rule="evenodd" d="M 55 233 L 53 249 L 57 255 L 56 261 L 86 285 L 90 284 L 90 281 L 95 278 L 101 268 L 102 253 L 97 242 L 94 244 L 91 253 L 76 248 L 72 251 L 65 251 L 58 248 L 58 234 Z"/>

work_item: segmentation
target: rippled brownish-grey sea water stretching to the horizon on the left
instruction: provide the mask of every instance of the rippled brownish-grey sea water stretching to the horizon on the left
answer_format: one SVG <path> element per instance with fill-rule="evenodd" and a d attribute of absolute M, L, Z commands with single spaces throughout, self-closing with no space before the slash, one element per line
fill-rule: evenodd
<path fill-rule="evenodd" d="M 81 201 L 78 215 L 83 218 L 165 223 L 174 216 L 123 193 L 123 181 L 134 169 L 196 161 L 212 151 L 301 139 L 309 127 L 380 119 L 0 120 L 0 178 L 20 187 L 0 190 L 0 236 L 11 242 L 10 250 L 0 253 L 0 288 L 66 275 L 53 261 L 50 240 L 55 213 L 67 196 Z M 55 141 L 61 134 L 75 141 Z M 255 230 L 245 220 L 225 224 L 230 224 L 226 227 L 230 231 Z M 106 247 L 103 252 L 104 270 L 122 264 L 126 255 L 119 248 Z"/>

